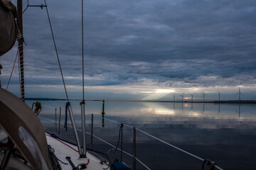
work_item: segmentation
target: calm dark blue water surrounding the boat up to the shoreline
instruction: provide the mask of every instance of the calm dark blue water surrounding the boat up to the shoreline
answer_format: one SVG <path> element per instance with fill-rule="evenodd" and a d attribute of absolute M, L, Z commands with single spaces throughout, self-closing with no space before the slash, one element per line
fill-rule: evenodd
<path fill-rule="evenodd" d="M 33 101 L 28 101 L 31 106 Z M 64 101 L 42 101 L 43 118 L 55 120 L 55 107 Z M 71 102 L 75 120 L 80 128 L 79 102 Z M 94 134 L 117 145 L 119 124 L 108 120 L 102 128 L 102 103 L 87 101 L 86 130 L 90 132 L 94 113 Z M 161 140 L 180 147 L 203 159 L 210 159 L 223 169 L 255 169 L 256 167 L 256 105 L 213 103 L 105 102 L 105 118 L 135 126 Z M 41 118 L 46 130 L 55 132 L 58 125 Z M 68 122 L 70 124 L 70 122 Z M 80 132 L 79 132 L 80 134 Z M 60 135 L 73 139 L 73 130 Z M 124 150 L 132 154 L 132 128 L 124 127 Z M 87 147 L 90 136 L 87 135 Z M 112 147 L 93 138 L 93 149 L 107 152 Z M 119 153 L 117 153 L 119 157 Z M 201 161 L 137 131 L 137 157 L 150 169 L 201 169 Z M 132 167 L 132 158 L 124 154 L 124 162 Z M 137 169 L 144 169 L 137 162 Z"/>

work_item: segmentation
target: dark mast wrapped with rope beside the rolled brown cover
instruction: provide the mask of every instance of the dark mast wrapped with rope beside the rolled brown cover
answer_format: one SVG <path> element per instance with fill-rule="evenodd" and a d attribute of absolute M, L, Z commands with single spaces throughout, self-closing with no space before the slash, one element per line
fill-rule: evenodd
<path fill-rule="evenodd" d="M 24 65 L 23 65 L 23 21 L 22 21 L 22 0 L 17 0 L 17 23 L 19 34 L 21 38 L 18 39 L 18 52 L 21 65 L 21 99 L 25 101 L 25 89 L 24 89 Z"/>

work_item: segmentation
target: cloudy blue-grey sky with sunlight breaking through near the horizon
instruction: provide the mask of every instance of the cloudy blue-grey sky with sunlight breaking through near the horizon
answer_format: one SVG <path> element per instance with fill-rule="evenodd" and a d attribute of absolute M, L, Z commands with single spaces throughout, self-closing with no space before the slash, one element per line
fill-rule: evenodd
<path fill-rule="evenodd" d="M 48 0 L 70 98 L 82 96 L 81 1 Z M 26 1 L 23 1 L 26 7 Z M 44 4 L 31 0 L 29 4 Z M 256 100 L 255 0 L 84 0 L 85 98 Z M 65 98 L 46 8 L 23 14 L 27 97 Z M 6 87 L 16 46 L 0 57 Z M 18 65 L 16 65 L 18 66 Z M 17 68 L 17 67 L 16 67 Z M 18 92 L 18 69 L 9 90 Z M 218 90 L 218 91 L 217 91 Z"/>

